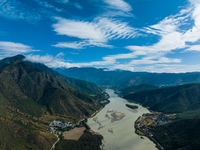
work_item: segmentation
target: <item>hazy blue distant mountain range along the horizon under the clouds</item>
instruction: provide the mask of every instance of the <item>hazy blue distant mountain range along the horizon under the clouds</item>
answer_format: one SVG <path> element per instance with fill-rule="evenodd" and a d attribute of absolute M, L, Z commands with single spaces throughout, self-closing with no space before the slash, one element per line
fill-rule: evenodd
<path fill-rule="evenodd" d="M 122 89 L 129 86 L 150 84 L 156 86 L 171 86 L 187 83 L 200 83 L 200 73 L 147 73 L 130 71 L 107 71 L 96 68 L 57 69 L 67 77 L 93 82 L 101 87 Z"/>

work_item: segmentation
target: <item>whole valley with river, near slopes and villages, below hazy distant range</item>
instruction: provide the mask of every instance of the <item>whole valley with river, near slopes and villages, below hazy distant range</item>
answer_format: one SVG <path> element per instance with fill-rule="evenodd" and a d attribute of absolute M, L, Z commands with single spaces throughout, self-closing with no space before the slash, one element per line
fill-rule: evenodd
<path fill-rule="evenodd" d="M 200 134 L 195 134 L 200 125 L 200 83 L 158 86 L 139 84 L 143 79 L 137 78 L 134 84 L 139 85 L 123 89 L 125 84 L 115 81 L 124 72 L 117 71 L 110 86 L 111 81 L 100 85 L 114 89 L 103 90 L 23 59 L 17 55 L 0 61 L 3 150 L 46 150 L 53 145 L 55 150 L 100 150 L 100 145 L 107 150 L 200 147 Z"/>

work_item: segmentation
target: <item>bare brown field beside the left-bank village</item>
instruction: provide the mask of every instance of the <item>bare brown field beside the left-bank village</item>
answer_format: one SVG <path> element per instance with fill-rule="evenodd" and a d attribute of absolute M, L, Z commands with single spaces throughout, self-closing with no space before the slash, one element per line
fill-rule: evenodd
<path fill-rule="evenodd" d="M 70 131 L 63 132 L 64 139 L 67 140 L 76 140 L 78 141 L 81 135 L 83 135 L 83 131 L 85 131 L 85 127 L 74 128 Z"/>

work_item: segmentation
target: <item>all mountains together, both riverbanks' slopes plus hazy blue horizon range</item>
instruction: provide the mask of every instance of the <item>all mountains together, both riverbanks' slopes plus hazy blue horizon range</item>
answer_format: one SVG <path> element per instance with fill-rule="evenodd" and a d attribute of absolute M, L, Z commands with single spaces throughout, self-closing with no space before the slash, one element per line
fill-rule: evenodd
<path fill-rule="evenodd" d="M 76 122 L 103 106 L 99 102 L 107 96 L 98 84 L 117 89 L 125 99 L 153 111 L 176 113 L 174 122 L 153 131 L 166 150 L 199 148 L 199 82 L 200 73 L 52 70 L 26 61 L 23 55 L 5 58 L 0 60 L 0 146 L 3 150 L 49 149 L 57 140 L 47 132 L 50 121 Z"/>

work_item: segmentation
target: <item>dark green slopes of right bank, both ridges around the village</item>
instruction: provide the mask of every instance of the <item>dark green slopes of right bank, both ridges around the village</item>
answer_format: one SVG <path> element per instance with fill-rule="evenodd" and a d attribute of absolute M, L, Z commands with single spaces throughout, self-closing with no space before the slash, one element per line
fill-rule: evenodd
<path fill-rule="evenodd" d="M 151 126 L 150 132 L 165 150 L 200 148 L 199 83 L 144 90 L 125 95 L 124 98 L 141 103 L 154 111 L 178 113 L 173 122 Z"/>

